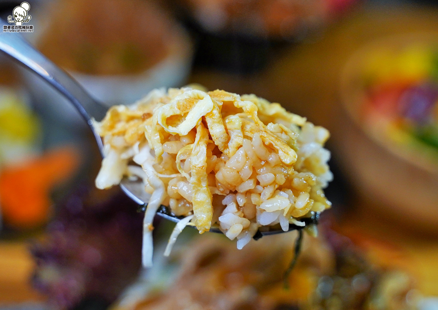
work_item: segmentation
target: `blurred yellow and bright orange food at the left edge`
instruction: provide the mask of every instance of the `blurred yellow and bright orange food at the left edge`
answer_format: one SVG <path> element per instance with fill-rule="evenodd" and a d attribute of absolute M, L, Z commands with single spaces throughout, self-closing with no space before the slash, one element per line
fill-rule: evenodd
<path fill-rule="evenodd" d="M 71 147 L 41 151 L 41 126 L 14 88 L 0 88 L 0 214 L 5 226 L 45 224 L 51 190 L 74 175 L 79 156 Z"/>

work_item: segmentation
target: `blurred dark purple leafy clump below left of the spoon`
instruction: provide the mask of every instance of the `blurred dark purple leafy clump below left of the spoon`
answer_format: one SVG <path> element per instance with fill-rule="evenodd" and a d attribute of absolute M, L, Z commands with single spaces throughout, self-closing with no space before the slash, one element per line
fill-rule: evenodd
<path fill-rule="evenodd" d="M 142 238 L 137 207 L 120 190 L 96 193 L 85 185 L 57 205 L 45 237 L 31 247 L 32 282 L 51 309 L 73 309 L 84 300 L 104 309 L 135 279 Z"/>

